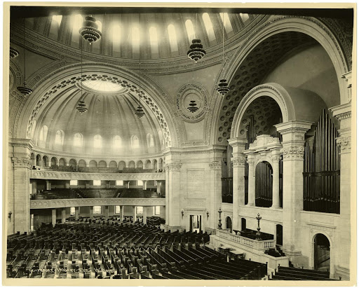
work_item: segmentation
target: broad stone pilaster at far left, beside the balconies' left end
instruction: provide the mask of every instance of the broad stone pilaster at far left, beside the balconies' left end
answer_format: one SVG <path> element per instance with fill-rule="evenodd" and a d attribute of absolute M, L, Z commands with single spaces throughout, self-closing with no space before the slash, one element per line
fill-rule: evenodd
<path fill-rule="evenodd" d="M 8 234 L 30 230 L 30 169 L 32 142 L 23 139 L 11 139 L 9 143 L 8 161 L 8 197 L 6 214 L 12 213 L 8 219 Z"/>

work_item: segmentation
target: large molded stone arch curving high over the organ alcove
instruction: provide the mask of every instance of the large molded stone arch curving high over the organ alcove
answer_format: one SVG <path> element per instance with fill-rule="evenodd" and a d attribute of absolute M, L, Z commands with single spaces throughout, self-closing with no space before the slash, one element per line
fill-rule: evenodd
<path fill-rule="evenodd" d="M 346 79 L 341 76 L 350 71 L 351 66 L 347 59 L 345 51 L 341 48 L 341 42 L 328 29 L 323 22 L 316 18 L 302 17 L 297 18 L 295 16 L 273 16 L 270 21 L 266 21 L 258 29 L 255 29 L 249 36 L 247 41 L 243 43 L 241 49 L 236 50 L 236 54 L 231 57 L 231 60 L 227 60 L 222 71 L 219 73 L 217 81 L 225 78 L 229 79 L 230 87 L 233 85 L 234 76 L 245 60 L 248 59 L 248 55 L 264 40 L 269 37 L 283 32 L 297 32 L 310 36 L 313 40 L 317 41 L 327 52 L 337 74 L 337 80 L 339 83 L 340 103 L 344 104 L 350 100 L 350 92 L 347 88 Z M 231 85 L 232 84 L 232 85 Z M 212 90 L 212 97 L 210 107 L 213 107 L 213 114 L 207 118 L 205 124 L 205 135 L 209 136 L 209 142 L 215 144 L 219 141 L 217 139 L 217 132 L 219 128 L 219 116 L 226 105 L 226 98 L 215 97 L 217 91 L 215 90 L 217 85 Z"/>

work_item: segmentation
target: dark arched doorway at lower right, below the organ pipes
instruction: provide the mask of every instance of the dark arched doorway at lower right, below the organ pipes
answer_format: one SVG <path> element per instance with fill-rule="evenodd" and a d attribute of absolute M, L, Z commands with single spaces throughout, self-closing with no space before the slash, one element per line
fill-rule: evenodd
<path fill-rule="evenodd" d="M 330 272 L 330 242 L 321 233 L 314 238 L 314 269 Z"/>

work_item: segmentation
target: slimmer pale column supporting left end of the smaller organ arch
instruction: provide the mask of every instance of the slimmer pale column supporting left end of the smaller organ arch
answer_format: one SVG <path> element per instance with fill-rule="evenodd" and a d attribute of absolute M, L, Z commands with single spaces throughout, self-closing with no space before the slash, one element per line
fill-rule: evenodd
<path fill-rule="evenodd" d="M 245 205 L 245 144 L 247 138 L 233 138 L 228 140 L 233 148 L 233 157 L 231 158 L 233 165 L 233 221 L 232 230 L 241 230 L 238 221 L 239 207 Z"/>

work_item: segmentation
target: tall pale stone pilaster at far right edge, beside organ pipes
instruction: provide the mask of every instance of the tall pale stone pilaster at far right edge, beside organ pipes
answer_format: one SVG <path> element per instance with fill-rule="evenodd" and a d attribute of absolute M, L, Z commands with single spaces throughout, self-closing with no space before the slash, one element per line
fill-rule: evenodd
<path fill-rule="evenodd" d="M 339 263 L 341 276 L 344 280 L 349 280 L 349 270 L 351 257 L 351 179 L 355 179 L 355 174 L 351 178 L 351 166 L 355 167 L 355 159 L 351 159 L 351 102 L 332 107 L 330 110 L 333 116 L 340 121 L 339 137 L 337 145 L 340 152 L 340 245 L 342 249 L 337 249 L 336 259 Z M 353 169 L 355 171 L 355 169 Z M 355 193 L 355 191 L 353 192 Z M 352 199 L 353 200 L 353 199 Z M 339 247 L 337 247 L 339 248 Z M 337 269 L 338 273 L 339 269 Z M 339 273 L 338 273 L 339 275 Z"/>

